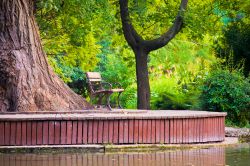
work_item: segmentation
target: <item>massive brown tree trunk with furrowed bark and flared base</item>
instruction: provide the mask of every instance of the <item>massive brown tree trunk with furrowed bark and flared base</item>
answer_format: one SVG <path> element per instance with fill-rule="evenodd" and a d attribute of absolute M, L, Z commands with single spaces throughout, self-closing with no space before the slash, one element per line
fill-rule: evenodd
<path fill-rule="evenodd" d="M 49 67 L 34 0 L 0 1 L 0 111 L 63 111 L 91 105 Z"/>

